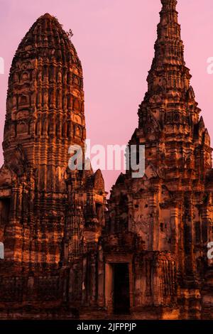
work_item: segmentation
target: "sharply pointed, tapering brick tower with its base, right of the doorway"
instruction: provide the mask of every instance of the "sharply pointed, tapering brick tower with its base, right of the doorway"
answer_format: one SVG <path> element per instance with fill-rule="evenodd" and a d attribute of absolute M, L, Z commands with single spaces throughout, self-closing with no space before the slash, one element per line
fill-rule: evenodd
<path fill-rule="evenodd" d="M 161 2 L 148 92 L 129 141 L 146 146 L 145 176 L 119 176 L 102 247 L 112 271 L 116 262 L 129 266 L 135 316 L 212 318 L 212 149 L 185 67 L 177 1 Z"/>

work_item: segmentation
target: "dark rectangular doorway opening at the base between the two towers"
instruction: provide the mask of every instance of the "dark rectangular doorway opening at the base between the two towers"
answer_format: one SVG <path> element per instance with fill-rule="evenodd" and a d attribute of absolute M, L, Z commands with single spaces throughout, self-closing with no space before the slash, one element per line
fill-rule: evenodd
<path fill-rule="evenodd" d="M 129 265 L 114 264 L 114 313 L 129 313 Z"/>

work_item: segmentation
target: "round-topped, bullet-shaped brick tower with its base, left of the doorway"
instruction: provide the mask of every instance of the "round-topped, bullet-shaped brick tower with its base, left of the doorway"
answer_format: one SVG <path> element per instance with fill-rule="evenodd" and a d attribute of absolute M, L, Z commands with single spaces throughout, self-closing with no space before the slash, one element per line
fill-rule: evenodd
<path fill-rule="evenodd" d="M 92 265 L 105 205 L 102 173 L 68 168 L 70 146 L 84 150 L 85 136 L 82 66 L 58 20 L 45 14 L 18 46 L 9 77 L 0 318 L 69 318 L 70 300 L 82 301 L 82 262 Z"/>

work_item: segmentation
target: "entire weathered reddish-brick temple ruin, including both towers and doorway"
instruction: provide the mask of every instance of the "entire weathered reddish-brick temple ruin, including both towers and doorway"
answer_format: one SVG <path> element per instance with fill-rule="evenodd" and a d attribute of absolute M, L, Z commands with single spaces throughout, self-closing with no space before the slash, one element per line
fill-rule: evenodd
<path fill-rule="evenodd" d="M 161 0 L 148 92 L 129 146 L 143 178 L 70 171 L 84 149 L 77 53 L 38 18 L 11 67 L 0 171 L 0 318 L 210 319 L 212 149 L 183 57 L 176 0 Z"/>

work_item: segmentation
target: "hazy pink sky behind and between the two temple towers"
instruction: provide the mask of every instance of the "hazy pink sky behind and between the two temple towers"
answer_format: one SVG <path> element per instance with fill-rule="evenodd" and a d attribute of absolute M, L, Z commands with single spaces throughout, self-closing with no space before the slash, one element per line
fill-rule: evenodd
<path fill-rule="evenodd" d="M 35 20 L 46 12 L 57 16 L 84 70 L 87 138 L 92 144 L 126 144 L 138 124 L 137 110 L 146 92 L 153 58 L 160 0 L 0 0 L 0 141 L 3 139 L 7 80 L 13 55 Z M 179 0 L 179 23 L 185 61 L 204 122 L 213 138 L 213 1 Z M 0 163 L 3 163 L 0 151 Z M 104 171 L 109 191 L 119 171 Z"/>

